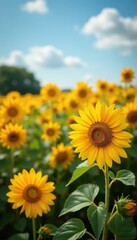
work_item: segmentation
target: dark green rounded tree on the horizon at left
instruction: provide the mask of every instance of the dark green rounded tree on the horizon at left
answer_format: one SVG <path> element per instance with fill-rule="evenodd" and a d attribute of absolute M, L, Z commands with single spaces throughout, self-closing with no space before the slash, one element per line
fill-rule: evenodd
<path fill-rule="evenodd" d="M 40 83 L 34 74 L 25 68 L 0 66 L 0 94 L 18 91 L 21 94 L 38 94 Z"/>

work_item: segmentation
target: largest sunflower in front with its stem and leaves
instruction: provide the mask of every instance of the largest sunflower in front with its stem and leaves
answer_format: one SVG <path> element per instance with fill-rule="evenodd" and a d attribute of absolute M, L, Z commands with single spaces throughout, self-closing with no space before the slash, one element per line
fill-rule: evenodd
<path fill-rule="evenodd" d="M 112 168 L 113 161 L 120 164 L 120 157 L 128 157 L 124 148 L 130 147 L 133 136 L 125 131 L 128 126 L 126 116 L 122 114 L 120 108 L 115 109 L 115 105 L 107 106 L 100 101 L 97 102 L 95 107 L 92 104 L 87 104 L 82 110 L 79 110 L 79 116 L 76 116 L 74 119 L 75 123 L 71 125 L 72 131 L 70 132 L 70 138 L 72 139 L 71 144 L 75 147 L 75 152 L 79 153 L 79 157 L 86 161 L 77 167 L 68 185 L 86 171 L 94 166 L 98 166 L 99 169 L 103 171 L 105 178 L 105 202 L 99 202 L 97 205 L 94 201 L 99 193 L 99 187 L 97 185 L 83 184 L 79 186 L 67 198 L 60 216 L 69 212 L 76 212 L 88 206 L 87 217 L 92 227 L 91 233 L 87 231 L 84 223 L 80 219 L 73 218 L 59 228 L 54 240 L 59 240 L 62 234 L 66 239 L 74 236 L 76 236 L 74 239 L 77 239 L 81 238 L 84 234 L 88 234 L 92 239 L 99 240 L 102 236 L 102 240 L 107 240 L 108 229 L 111 231 L 109 224 L 112 223 L 118 215 L 115 202 L 111 213 L 109 213 L 110 188 L 112 183 L 117 180 L 113 172 L 111 173 L 112 176 L 110 176 L 109 168 Z M 121 171 L 118 173 L 119 180 L 122 181 L 122 176 L 125 176 L 125 174 L 128 177 L 131 172 L 128 172 L 128 170 Z M 135 177 L 133 173 L 131 175 L 134 181 L 130 183 L 134 185 Z M 111 181 L 109 182 L 110 178 Z M 126 181 L 124 181 L 124 183 L 125 182 Z M 119 224 L 123 224 L 122 221 L 123 219 L 119 219 L 118 216 Z M 67 233 L 65 233 L 66 228 Z M 114 230 L 112 229 L 112 231 Z"/>

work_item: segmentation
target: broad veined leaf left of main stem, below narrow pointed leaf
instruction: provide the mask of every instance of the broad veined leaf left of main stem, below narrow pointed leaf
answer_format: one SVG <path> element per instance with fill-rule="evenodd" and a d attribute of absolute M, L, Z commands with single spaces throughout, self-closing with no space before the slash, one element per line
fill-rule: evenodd
<path fill-rule="evenodd" d="M 99 192 L 99 187 L 93 184 L 79 186 L 67 198 L 60 216 L 68 212 L 76 212 L 84 207 L 90 206 Z"/>

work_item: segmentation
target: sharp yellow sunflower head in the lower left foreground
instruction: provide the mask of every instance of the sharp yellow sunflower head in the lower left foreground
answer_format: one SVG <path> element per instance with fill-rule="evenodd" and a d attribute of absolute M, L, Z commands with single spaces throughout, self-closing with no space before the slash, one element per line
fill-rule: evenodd
<path fill-rule="evenodd" d="M 49 212 L 56 197 L 51 193 L 55 189 L 54 183 L 47 180 L 48 175 L 42 176 L 41 171 L 36 173 L 33 168 L 14 175 L 7 193 L 8 202 L 13 203 L 12 208 L 22 207 L 20 213 L 25 212 L 29 218 Z"/>

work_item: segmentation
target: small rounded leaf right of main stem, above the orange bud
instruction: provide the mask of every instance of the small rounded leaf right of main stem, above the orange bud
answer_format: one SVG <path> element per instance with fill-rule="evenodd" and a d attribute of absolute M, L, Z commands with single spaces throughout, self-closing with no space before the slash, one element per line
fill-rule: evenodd
<path fill-rule="evenodd" d="M 121 181 L 125 185 L 135 186 L 135 175 L 129 170 L 120 170 L 117 172 L 116 180 Z"/>

